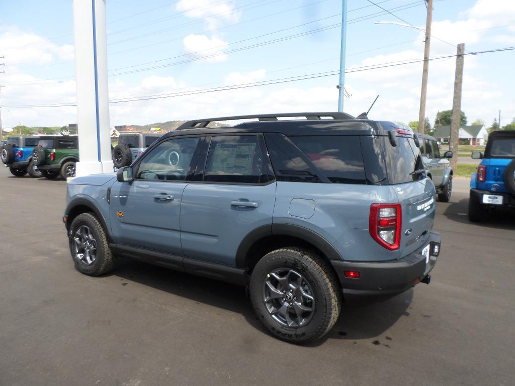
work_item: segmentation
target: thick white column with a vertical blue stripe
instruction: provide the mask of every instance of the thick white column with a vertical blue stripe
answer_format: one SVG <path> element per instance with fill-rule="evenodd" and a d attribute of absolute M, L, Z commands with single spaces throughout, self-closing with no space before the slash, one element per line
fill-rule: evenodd
<path fill-rule="evenodd" d="M 113 171 L 105 0 L 73 0 L 79 156 L 77 177 Z"/>

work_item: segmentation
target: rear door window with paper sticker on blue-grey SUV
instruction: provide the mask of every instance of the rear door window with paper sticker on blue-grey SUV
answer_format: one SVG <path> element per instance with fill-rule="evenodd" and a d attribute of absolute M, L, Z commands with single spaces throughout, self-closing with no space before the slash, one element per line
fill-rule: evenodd
<path fill-rule="evenodd" d="M 260 184 L 263 155 L 256 135 L 214 136 L 209 146 L 204 181 Z"/>

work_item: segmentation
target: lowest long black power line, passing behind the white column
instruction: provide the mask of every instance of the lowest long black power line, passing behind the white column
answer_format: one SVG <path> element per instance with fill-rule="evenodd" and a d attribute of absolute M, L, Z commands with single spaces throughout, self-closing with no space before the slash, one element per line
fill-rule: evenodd
<path fill-rule="evenodd" d="M 496 49 L 490 49 L 490 50 L 484 50 L 484 51 L 478 51 L 478 52 L 470 52 L 466 53 L 464 55 L 479 55 L 479 54 L 487 54 L 490 52 L 502 52 L 502 51 L 511 51 L 515 50 L 515 46 L 512 47 L 505 47 L 505 48 L 496 48 Z M 456 54 L 454 55 L 448 55 L 448 56 L 442 56 L 437 58 L 430 58 L 428 60 L 441 60 L 441 59 L 449 59 L 456 57 Z M 345 73 L 346 74 L 352 74 L 355 72 L 362 72 L 362 71 L 370 71 L 372 69 L 379 69 L 379 68 L 386 68 L 386 67 L 396 67 L 406 64 L 414 64 L 414 63 L 420 63 L 423 62 L 423 59 L 416 59 L 416 60 L 410 60 L 410 61 L 401 61 L 401 62 L 389 62 L 389 63 L 381 63 L 381 64 L 372 64 L 368 66 L 361 66 L 361 67 L 354 67 L 348 69 Z M 135 101 L 142 101 L 142 100 L 150 100 L 150 99 L 163 99 L 163 98 L 173 98 L 178 96 L 187 96 L 187 95 L 197 95 L 197 94 L 205 94 L 205 93 L 212 93 L 212 92 L 218 92 L 218 91 L 228 91 L 228 90 L 236 90 L 236 89 L 244 89 L 248 87 L 257 87 L 257 86 L 264 86 L 264 85 L 271 85 L 271 84 L 279 84 L 279 83 L 288 83 L 288 82 L 295 82 L 300 80 L 308 80 L 308 79 L 315 79 L 315 78 L 322 78 L 327 76 L 335 76 L 338 75 L 339 71 L 328 71 L 324 73 L 315 73 L 315 74 L 305 74 L 305 75 L 299 75 L 297 77 L 288 77 L 288 78 L 279 78 L 279 79 L 271 79 L 269 81 L 261 81 L 261 82 L 254 82 L 254 83 L 247 83 L 247 84 L 239 84 L 239 85 L 231 85 L 231 86 L 224 86 L 224 87 L 214 87 L 213 89 L 206 89 L 206 90 L 197 90 L 192 92 L 183 92 L 183 93 L 170 93 L 167 96 L 153 96 L 153 97 L 145 97 L 145 98 L 133 98 L 130 100 L 122 100 L 124 98 L 119 99 L 113 99 L 109 103 L 124 103 L 124 102 L 135 102 Z M 127 98 L 125 98 L 127 99 Z M 71 106 L 77 106 L 76 103 L 64 103 L 64 104 L 46 104 L 46 105 L 19 105 L 19 106 L 5 106 L 7 108 L 45 108 L 45 107 L 71 107 Z"/>

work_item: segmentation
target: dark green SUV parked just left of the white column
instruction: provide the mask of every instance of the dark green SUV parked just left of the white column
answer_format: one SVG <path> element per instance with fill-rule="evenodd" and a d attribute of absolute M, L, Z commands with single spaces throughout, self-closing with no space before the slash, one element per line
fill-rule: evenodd
<path fill-rule="evenodd" d="M 32 152 L 32 160 L 47 179 L 75 177 L 79 139 L 77 136 L 43 135 Z"/>

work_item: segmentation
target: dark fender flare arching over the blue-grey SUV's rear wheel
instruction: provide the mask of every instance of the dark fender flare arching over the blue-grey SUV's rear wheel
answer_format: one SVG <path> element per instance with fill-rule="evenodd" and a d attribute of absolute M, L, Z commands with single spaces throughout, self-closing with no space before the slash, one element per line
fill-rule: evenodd
<path fill-rule="evenodd" d="M 299 225 L 274 223 L 260 226 L 244 237 L 236 252 L 236 267 L 245 268 L 252 245 L 268 236 L 292 236 L 314 245 L 330 260 L 343 260 L 333 245 L 319 234 Z"/>

